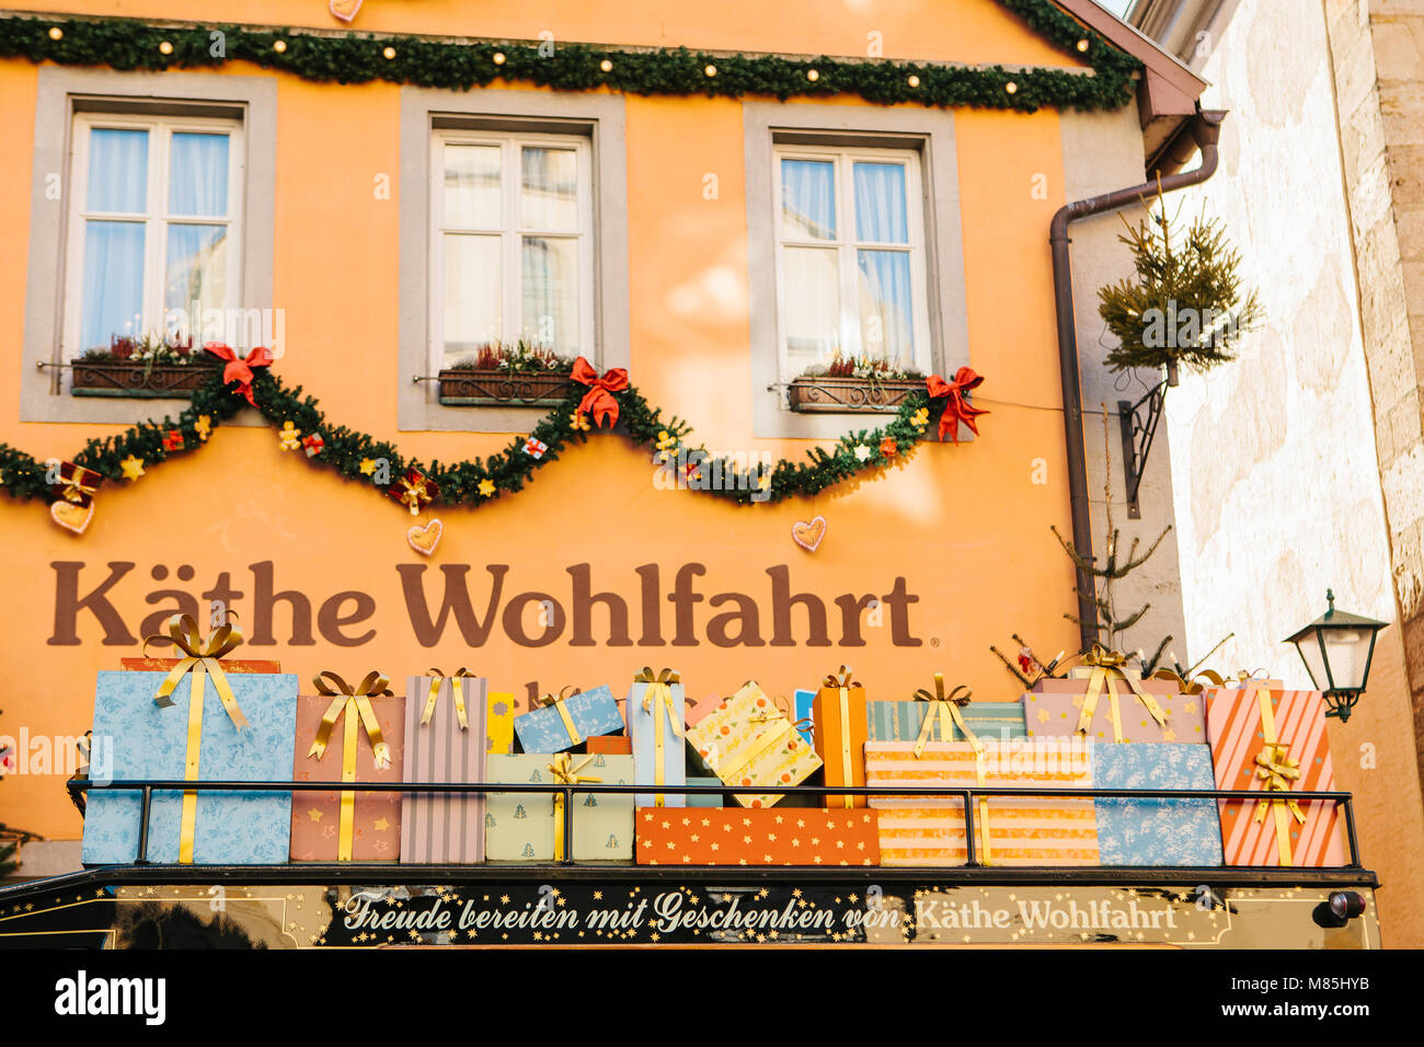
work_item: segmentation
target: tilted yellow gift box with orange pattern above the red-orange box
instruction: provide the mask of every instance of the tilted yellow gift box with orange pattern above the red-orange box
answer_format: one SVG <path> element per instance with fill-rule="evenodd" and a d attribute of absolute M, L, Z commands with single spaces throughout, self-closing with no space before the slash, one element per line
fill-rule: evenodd
<path fill-rule="evenodd" d="M 820 768 L 820 756 L 792 728 L 755 681 L 748 681 L 695 726 L 688 742 L 728 785 L 799 785 Z M 745 808 L 769 808 L 783 793 L 736 793 Z"/>

